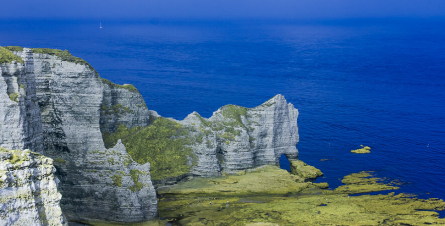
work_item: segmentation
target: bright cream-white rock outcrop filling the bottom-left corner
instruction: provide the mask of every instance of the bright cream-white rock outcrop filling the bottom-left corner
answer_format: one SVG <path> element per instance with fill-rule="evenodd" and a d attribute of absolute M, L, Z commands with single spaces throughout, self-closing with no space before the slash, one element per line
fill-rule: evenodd
<path fill-rule="evenodd" d="M 0 225 L 67 225 L 53 160 L 0 148 Z"/>

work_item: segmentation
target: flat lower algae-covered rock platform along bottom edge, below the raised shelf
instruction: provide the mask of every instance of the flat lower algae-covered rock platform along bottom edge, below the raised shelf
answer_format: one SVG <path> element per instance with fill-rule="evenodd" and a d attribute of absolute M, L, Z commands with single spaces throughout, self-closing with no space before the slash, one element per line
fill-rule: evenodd
<path fill-rule="evenodd" d="M 424 225 L 443 224 L 434 211 L 442 200 L 413 199 L 405 194 L 317 194 L 295 197 L 201 197 L 160 199 L 162 218 L 181 225 Z M 209 202 L 212 201 L 212 204 Z M 228 201 L 228 205 L 226 206 Z M 421 211 L 417 209 L 423 209 Z M 175 224 L 177 225 L 177 224 Z"/>

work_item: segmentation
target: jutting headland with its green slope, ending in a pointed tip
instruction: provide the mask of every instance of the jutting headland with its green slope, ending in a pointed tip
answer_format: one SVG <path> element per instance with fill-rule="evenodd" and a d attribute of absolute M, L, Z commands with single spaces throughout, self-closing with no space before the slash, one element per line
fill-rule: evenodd
<path fill-rule="evenodd" d="M 191 175 L 219 176 L 277 164 L 282 154 L 297 159 L 297 118 L 298 110 L 276 95 L 253 108 L 223 106 L 209 119 L 193 112 L 183 121 L 157 118 L 148 127 L 119 126 L 106 140 L 122 139 L 136 162 L 149 162 L 157 187 Z"/>

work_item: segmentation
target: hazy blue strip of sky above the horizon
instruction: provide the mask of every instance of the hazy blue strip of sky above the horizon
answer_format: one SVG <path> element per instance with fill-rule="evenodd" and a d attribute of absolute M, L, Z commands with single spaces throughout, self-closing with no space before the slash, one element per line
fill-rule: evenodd
<path fill-rule="evenodd" d="M 445 17 L 445 0 L 20 0 L 0 19 L 345 19 Z"/>

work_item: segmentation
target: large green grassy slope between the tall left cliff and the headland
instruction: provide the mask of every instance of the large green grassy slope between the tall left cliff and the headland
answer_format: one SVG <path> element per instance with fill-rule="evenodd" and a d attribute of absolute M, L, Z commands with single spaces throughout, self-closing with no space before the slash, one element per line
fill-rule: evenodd
<path fill-rule="evenodd" d="M 193 150 L 187 147 L 193 141 L 187 137 L 188 129 L 162 117 L 148 127 L 128 129 L 121 124 L 115 133 L 104 132 L 102 135 L 106 148 L 114 147 L 122 139 L 127 153 L 135 162 L 149 162 L 153 180 L 189 173 L 188 159 L 195 158 Z"/>

